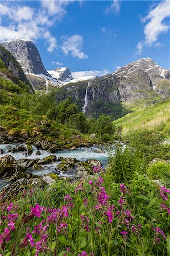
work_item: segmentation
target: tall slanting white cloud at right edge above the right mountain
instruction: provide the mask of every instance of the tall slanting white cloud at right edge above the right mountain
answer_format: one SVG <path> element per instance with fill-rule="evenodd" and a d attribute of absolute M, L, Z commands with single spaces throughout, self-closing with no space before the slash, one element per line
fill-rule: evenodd
<path fill-rule="evenodd" d="M 144 27 L 144 40 L 136 46 L 137 54 L 142 53 L 144 46 L 156 46 L 159 35 L 169 30 L 169 24 L 165 22 L 165 18 L 169 16 L 169 1 L 162 1 L 142 19 L 143 22 L 149 22 Z M 160 43 L 157 46 L 160 46 Z"/>

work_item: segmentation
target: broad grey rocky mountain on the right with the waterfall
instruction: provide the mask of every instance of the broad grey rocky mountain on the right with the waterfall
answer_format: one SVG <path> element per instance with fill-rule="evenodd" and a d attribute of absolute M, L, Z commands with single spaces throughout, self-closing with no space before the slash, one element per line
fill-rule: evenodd
<path fill-rule="evenodd" d="M 71 96 L 88 117 L 111 114 L 122 117 L 134 108 L 143 108 L 170 97 L 170 72 L 150 58 L 127 64 L 118 71 L 89 81 L 65 85 L 58 98 Z"/>

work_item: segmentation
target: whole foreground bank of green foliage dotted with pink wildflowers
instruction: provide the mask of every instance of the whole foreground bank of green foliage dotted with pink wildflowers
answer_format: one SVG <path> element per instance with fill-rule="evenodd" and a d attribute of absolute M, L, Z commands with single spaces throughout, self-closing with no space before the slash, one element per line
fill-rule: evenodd
<path fill-rule="evenodd" d="M 121 185 L 102 177 L 1 204 L 2 255 L 167 255 L 170 192 L 143 175 Z"/>

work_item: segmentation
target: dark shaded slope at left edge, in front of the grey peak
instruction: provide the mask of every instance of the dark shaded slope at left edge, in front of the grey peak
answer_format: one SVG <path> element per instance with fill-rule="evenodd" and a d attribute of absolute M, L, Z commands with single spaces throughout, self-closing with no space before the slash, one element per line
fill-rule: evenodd
<path fill-rule="evenodd" d="M 32 86 L 30 82 L 27 80 L 26 75 L 24 75 L 22 68 L 14 58 L 14 56 L 7 51 L 3 46 L 0 45 L 0 79 L 1 86 L 2 80 L 11 81 L 14 84 L 20 84 L 20 81 L 26 84 L 26 88 L 29 92 L 33 93 Z"/>

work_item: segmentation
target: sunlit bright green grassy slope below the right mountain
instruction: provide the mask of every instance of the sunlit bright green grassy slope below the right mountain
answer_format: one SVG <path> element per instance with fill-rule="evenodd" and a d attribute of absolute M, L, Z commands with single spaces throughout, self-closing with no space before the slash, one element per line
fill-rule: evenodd
<path fill-rule="evenodd" d="M 141 128 L 159 129 L 170 133 L 170 99 L 136 110 L 113 122 L 122 127 L 123 134 Z"/>

